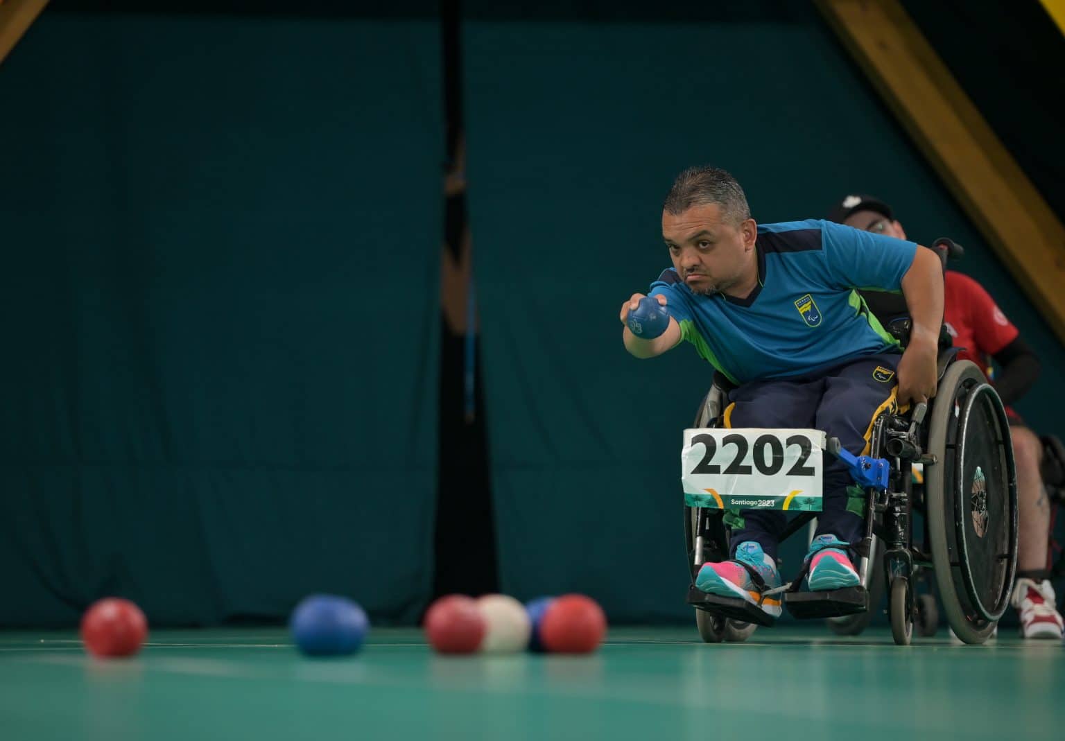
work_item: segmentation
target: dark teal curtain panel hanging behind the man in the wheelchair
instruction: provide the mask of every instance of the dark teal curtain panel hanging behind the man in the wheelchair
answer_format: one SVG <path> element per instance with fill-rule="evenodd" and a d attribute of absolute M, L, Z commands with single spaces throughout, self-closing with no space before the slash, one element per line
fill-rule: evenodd
<path fill-rule="evenodd" d="M 879 194 L 913 237 L 965 243 L 961 267 L 1048 366 L 1065 361 L 812 7 L 761 21 L 701 14 L 463 28 L 503 587 L 587 592 L 618 621 L 690 619 L 678 456 L 710 368 L 687 346 L 629 357 L 618 320 L 670 265 L 661 202 L 684 167 L 732 170 L 763 223 Z M 1043 395 L 1053 383 L 1021 405 L 1033 422 L 1065 411 Z M 786 573 L 804 550 L 784 550 Z"/>

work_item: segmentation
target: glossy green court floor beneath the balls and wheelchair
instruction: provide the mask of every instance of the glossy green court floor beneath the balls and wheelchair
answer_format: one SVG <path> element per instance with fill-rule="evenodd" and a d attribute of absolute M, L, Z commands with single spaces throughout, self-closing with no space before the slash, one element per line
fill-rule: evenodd
<path fill-rule="evenodd" d="M 0 739 L 1061 739 L 1065 648 L 820 626 L 706 645 L 617 628 L 591 657 L 435 656 L 377 629 L 346 659 L 278 629 L 157 630 L 88 658 L 73 632 L 0 632 Z"/>

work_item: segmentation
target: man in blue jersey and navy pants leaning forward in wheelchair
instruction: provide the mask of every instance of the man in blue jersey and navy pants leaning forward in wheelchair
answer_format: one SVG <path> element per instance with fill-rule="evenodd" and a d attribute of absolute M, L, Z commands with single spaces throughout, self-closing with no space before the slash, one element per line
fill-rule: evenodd
<path fill-rule="evenodd" d="M 861 456 L 882 412 L 935 395 L 944 281 L 932 250 L 823 220 L 758 226 L 740 185 L 714 167 L 676 178 L 662 236 L 673 266 L 650 297 L 634 294 L 622 304 L 624 345 L 637 358 L 693 345 L 736 386 L 725 426 L 815 428 Z M 904 295 L 912 318 L 905 351 L 867 310 L 857 293 L 864 287 Z M 660 333 L 652 329 L 656 311 L 668 314 Z M 866 523 L 848 506 L 853 483 L 841 460 L 826 463 L 804 562 L 810 591 L 859 583 L 853 547 Z M 742 510 L 728 560 L 703 564 L 698 589 L 744 600 L 771 622 L 781 614 L 773 590 L 782 581 L 776 548 L 785 526 L 783 511 Z"/>

